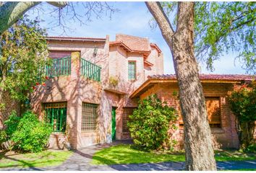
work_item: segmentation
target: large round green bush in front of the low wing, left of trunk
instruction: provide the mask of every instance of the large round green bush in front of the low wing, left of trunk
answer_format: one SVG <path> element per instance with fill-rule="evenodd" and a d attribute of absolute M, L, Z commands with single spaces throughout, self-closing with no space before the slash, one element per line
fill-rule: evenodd
<path fill-rule="evenodd" d="M 129 115 L 127 123 L 135 144 L 147 150 L 170 148 L 168 130 L 176 128 L 174 125 L 178 115 L 173 107 L 162 103 L 156 95 L 143 99 L 133 115 Z"/>

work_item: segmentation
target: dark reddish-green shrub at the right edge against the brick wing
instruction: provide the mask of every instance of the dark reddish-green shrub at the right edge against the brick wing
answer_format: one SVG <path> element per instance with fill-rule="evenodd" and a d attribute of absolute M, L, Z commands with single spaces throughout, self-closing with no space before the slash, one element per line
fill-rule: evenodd
<path fill-rule="evenodd" d="M 239 137 L 239 148 L 244 150 L 254 143 L 256 121 L 256 86 L 251 84 L 234 85 L 229 92 L 231 110 L 236 116 L 236 128 Z"/>

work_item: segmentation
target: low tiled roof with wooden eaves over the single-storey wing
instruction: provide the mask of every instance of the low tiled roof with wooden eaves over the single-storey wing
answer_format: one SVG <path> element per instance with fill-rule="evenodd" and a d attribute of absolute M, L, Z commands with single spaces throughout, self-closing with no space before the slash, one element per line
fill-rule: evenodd
<path fill-rule="evenodd" d="M 226 84 L 236 84 L 241 81 L 254 81 L 255 76 L 244 75 L 244 74 L 200 74 L 200 81 L 202 83 L 226 83 Z M 163 75 L 153 75 L 148 76 L 148 80 L 145 81 L 139 88 L 135 90 L 130 96 L 130 98 L 139 97 L 140 94 L 147 91 L 154 84 L 163 83 L 176 83 L 175 74 L 163 74 Z"/>

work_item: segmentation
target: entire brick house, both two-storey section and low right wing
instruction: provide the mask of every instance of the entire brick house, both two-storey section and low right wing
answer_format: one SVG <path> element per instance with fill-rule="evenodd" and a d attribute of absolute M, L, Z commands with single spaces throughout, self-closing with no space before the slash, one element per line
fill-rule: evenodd
<path fill-rule="evenodd" d="M 147 38 L 116 35 L 116 40 L 90 37 L 47 37 L 53 65 L 50 79 L 37 86 L 31 107 L 53 125 L 50 147 L 82 148 L 130 138 L 127 120 L 137 101 L 157 94 L 179 110 L 174 75 L 163 75 L 163 53 Z M 201 75 L 208 119 L 217 147 L 237 147 L 235 118 L 226 94 L 232 84 L 251 76 Z M 180 114 L 180 112 L 179 112 Z M 183 143 L 182 119 L 174 137 Z"/>

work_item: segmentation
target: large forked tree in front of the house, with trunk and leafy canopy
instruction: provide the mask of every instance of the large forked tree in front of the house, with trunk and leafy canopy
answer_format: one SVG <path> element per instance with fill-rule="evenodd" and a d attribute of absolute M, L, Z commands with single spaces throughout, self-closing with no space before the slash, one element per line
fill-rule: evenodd
<path fill-rule="evenodd" d="M 205 120 L 205 101 L 198 78 L 195 54 L 199 61 L 206 62 L 208 69 L 213 70 L 213 61 L 232 50 L 238 53 L 236 59 L 244 63 L 243 67 L 247 72 L 255 74 L 256 3 L 146 2 L 146 4 L 160 27 L 174 59 L 184 120 L 186 167 L 192 170 L 215 169 L 210 128 Z M 200 132 L 198 134 L 197 129 Z M 201 133 L 201 130 L 205 132 Z M 209 146 L 205 147 L 204 143 L 208 143 Z M 210 151 L 205 153 L 207 148 Z"/>

